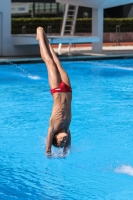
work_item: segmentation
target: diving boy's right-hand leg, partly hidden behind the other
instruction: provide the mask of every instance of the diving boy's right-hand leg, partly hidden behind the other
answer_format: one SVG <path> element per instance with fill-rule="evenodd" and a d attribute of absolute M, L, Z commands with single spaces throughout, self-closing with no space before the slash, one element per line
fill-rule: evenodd
<path fill-rule="evenodd" d="M 50 50 L 50 53 L 51 53 L 51 55 L 52 55 L 52 58 L 53 58 L 54 62 L 56 63 L 56 66 L 57 66 L 57 68 L 58 68 L 58 70 L 59 70 L 61 80 L 62 80 L 64 83 L 66 83 L 67 85 L 71 86 L 69 77 L 68 77 L 66 71 L 62 68 L 62 66 L 61 66 L 61 64 L 60 64 L 60 61 L 59 61 L 59 59 L 57 58 L 57 56 L 56 56 L 56 54 L 55 54 L 55 52 L 54 52 L 54 50 L 53 50 L 51 44 L 49 43 L 48 38 L 47 38 L 45 32 L 44 32 L 44 39 L 45 39 L 46 46 L 47 46 L 48 49 Z"/>

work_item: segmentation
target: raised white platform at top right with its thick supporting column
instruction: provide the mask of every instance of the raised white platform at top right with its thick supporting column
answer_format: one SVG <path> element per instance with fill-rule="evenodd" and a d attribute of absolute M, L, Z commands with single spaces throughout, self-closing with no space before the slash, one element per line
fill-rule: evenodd
<path fill-rule="evenodd" d="M 56 0 L 56 2 L 92 8 L 92 35 L 100 39 L 99 43 L 92 43 L 92 51 L 101 52 L 103 44 L 103 10 L 133 3 L 133 0 Z"/>

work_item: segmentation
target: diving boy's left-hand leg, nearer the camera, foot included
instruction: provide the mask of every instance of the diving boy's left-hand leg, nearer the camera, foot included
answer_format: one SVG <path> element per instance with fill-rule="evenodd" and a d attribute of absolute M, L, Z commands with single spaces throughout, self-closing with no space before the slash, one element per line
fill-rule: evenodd
<path fill-rule="evenodd" d="M 50 53 L 50 49 L 46 45 L 46 42 L 44 40 L 44 31 L 41 27 L 37 28 L 36 39 L 39 41 L 41 57 L 47 66 L 50 88 L 56 88 L 61 82 L 61 77 L 56 63 L 54 62 Z"/>

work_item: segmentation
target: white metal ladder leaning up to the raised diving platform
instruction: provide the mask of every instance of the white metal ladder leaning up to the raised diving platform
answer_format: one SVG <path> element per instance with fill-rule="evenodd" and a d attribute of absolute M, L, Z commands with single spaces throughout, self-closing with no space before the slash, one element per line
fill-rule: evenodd
<path fill-rule="evenodd" d="M 72 36 L 74 35 L 77 14 L 78 14 L 78 6 L 66 4 L 62 22 L 62 28 L 61 28 L 61 36 L 64 36 L 66 34 Z M 61 47 L 62 44 L 60 43 L 58 45 L 58 53 L 61 52 Z M 70 51 L 71 44 L 68 45 L 68 48 Z"/>

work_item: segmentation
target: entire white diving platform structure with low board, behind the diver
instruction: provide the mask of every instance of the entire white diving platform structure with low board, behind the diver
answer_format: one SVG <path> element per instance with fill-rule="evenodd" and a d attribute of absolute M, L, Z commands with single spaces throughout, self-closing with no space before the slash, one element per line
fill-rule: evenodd
<path fill-rule="evenodd" d="M 92 51 L 102 51 L 103 43 L 103 9 L 133 3 L 133 0 L 56 0 L 56 2 L 93 8 L 92 37 L 49 38 L 51 43 L 93 43 Z M 93 37 L 95 36 L 95 37 Z M 99 38 L 99 42 L 98 42 Z M 64 41 L 63 41 L 64 40 Z M 11 35 L 11 0 L 0 0 L 0 56 L 25 56 L 39 54 L 35 36 Z"/>

